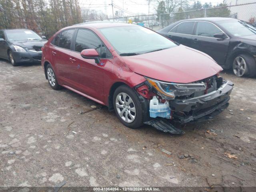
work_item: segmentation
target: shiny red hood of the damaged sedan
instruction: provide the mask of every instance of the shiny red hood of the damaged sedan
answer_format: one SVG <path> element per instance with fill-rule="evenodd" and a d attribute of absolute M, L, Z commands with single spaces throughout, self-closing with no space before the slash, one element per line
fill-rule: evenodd
<path fill-rule="evenodd" d="M 194 82 L 222 70 L 207 54 L 183 45 L 122 58 L 134 72 L 166 82 Z"/>

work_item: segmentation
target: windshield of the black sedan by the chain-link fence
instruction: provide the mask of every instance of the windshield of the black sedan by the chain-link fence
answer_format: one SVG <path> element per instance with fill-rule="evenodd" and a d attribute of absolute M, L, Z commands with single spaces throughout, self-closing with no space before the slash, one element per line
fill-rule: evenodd
<path fill-rule="evenodd" d="M 227 20 L 218 23 L 234 36 L 247 36 L 256 34 L 256 28 L 247 22 L 240 20 Z"/>

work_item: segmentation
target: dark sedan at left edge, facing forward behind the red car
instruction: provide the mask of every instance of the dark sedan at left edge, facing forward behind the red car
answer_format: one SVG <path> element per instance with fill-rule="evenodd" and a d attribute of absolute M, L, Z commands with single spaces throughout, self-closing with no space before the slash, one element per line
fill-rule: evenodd
<path fill-rule="evenodd" d="M 0 30 L 0 58 L 9 60 L 13 66 L 22 62 L 40 62 L 42 46 L 47 42 L 32 30 Z"/>

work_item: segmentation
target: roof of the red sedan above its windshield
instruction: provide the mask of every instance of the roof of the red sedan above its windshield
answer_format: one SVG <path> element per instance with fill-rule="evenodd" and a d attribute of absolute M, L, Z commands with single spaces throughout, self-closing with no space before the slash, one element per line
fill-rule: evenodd
<path fill-rule="evenodd" d="M 118 27 L 118 26 L 138 26 L 134 24 L 128 24 L 128 23 L 117 23 L 117 22 L 88 22 L 88 23 L 81 23 L 73 25 L 76 27 L 94 27 L 94 28 L 106 28 L 106 27 Z"/>

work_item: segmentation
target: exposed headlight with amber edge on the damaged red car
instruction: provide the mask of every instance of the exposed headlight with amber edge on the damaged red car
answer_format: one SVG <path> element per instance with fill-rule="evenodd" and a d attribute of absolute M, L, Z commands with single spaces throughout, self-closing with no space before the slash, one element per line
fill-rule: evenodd
<path fill-rule="evenodd" d="M 175 96 L 189 96 L 194 92 L 206 90 L 206 85 L 202 83 L 167 83 L 146 78 L 146 80 L 166 99 L 174 99 Z"/>

